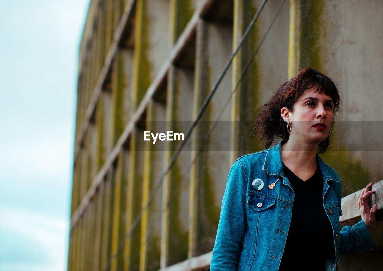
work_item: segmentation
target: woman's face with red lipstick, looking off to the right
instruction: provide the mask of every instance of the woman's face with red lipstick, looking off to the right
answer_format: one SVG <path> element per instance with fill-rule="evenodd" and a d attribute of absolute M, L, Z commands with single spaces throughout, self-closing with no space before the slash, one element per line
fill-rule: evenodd
<path fill-rule="evenodd" d="M 291 118 L 291 136 L 307 143 L 319 144 L 329 135 L 334 119 L 334 102 L 324 91 L 316 88 L 306 89 L 294 105 L 293 112 L 288 112 Z"/>

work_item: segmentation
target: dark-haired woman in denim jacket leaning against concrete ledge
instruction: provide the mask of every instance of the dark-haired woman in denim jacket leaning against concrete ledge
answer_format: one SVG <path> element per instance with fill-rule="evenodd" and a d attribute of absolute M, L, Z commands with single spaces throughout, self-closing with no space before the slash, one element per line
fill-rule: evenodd
<path fill-rule="evenodd" d="M 210 270 L 337 270 L 339 255 L 375 249 L 376 204 L 363 190 L 362 220 L 339 231 L 342 191 L 326 151 L 339 92 L 306 68 L 284 83 L 259 116 L 274 147 L 237 159 L 228 176 Z"/>

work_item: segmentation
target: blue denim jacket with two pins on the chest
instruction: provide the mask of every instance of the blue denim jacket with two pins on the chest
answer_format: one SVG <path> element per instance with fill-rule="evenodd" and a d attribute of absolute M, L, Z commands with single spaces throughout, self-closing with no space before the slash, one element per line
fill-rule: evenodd
<path fill-rule="evenodd" d="M 363 220 L 339 230 L 342 190 L 334 169 L 316 160 L 323 178 L 323 208 L 331 222 L 335 251 L 326 260 L 326 270 L 337 270 L 339 255 L 368 252 L 376 248 Z M 255 190 L 254 179 L 264 187 Z M 268 186 L 275 183 L 273 189 Z M 277 271 L 283 255 L 294 191 L 283 175 L 281 142 L 259 153 L 238 158 L 230 169 L 223 195 L 210 271 Z M 309 248 L 308 248 L 309 249 Z"/>

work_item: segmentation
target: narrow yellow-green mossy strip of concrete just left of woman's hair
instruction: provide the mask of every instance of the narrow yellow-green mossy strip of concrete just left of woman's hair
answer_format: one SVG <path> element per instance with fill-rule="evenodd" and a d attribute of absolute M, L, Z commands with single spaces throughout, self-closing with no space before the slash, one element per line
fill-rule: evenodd
<path fill-rule="evenodd" d="M 245 0 L 234 1 L 233 50 L 238 46 L 255 13 L 257 13 L 255 3 Z M 261 23 L 258 20 L 233 59 L 232 89 L 236 87 L 242 72 L 260 42 L 260 25 Z M 244 154 L 262 149 L 262 145 L 257 140 L 254 140 L 254 135 L 250 133 L 251 129 L 249 129 L 249 121 L 254 118 L 257 109 L 260 107 L 260 81 L 262 78 L 259 67 L 259 57 L 255 57 L 233 95 L 231 107 L 231 162 Z"/>

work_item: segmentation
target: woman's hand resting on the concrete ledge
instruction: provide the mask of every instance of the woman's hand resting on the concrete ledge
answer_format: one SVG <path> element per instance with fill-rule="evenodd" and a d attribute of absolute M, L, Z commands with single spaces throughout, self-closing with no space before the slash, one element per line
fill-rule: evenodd
<path fill-rule="evenodd" d="M 376 222 L 376 204 L 373 204 L 372 208 L 368 205 L 368 197 L 375 193 L 375 190 L 370 191 L 372 183 L 369 183 L 362 193 L 360 193 L 360 198 L 358 201 L 358 207 L 360 216 L 362 216 L 363 222 L 366 224 L 367 229 L 370 231 L 370 234 L 373 234 L 378 228 L 378 223 Z"/>

